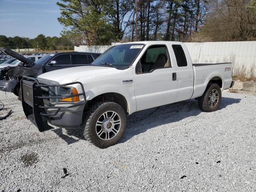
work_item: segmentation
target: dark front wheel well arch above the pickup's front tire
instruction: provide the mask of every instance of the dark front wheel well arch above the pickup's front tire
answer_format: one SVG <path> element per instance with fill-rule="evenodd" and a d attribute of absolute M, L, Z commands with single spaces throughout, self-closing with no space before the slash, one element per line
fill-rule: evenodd
<path fill-rule="evenodd" d="M 101 101 L 115 102 L 115 103 L 119 104 L 124 109 L 126 114 L 129 114 L 129 106 L 126 101 L 126 98 L 124 96 L 122 96 L 121 94 L 112 93 L 112 92 L 98 95 L 98 96 L 94 97 L 92 100 L 89 100 L 86 103 L 85 109 L 89 108 L 91 104 L 93 104 L 95 102 L 101 102 Z"/>

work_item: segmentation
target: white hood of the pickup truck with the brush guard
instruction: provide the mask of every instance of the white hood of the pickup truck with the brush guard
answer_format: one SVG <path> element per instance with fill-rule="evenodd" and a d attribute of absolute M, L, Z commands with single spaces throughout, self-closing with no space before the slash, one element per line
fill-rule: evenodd
<path fill-rule="evenodd" d="M 60 84 L 70 82 L 89 83 L 103 81 L 106 79 L 116 78 L 118 74 L 122 74 L 124 70 L 118 70 L 112 67 L 102 66 L 80 66 L 72 68 L 64 68 L 47 72 L 38 76 L 38 78 L 51 80 Z"/>

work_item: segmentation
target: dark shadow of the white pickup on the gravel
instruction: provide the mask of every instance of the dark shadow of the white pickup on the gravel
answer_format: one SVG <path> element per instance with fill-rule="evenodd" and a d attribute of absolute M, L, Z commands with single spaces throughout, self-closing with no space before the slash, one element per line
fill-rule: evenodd
<path fill-rule="evenodd" d="M 228 105 L 239 103 L 240 100 L 222 97 L 218 110 L 226 108 Z M 195 99 L 135 112 L 128 116 L 126 132 L 120 142 L 126 142 L 133 136 L 146 132 L 150 128 L 178 122 L 190 116 L 197 116 L 201 112 L 198 101 Z M 196 121 L 196 118 L 193 121 Z"/>

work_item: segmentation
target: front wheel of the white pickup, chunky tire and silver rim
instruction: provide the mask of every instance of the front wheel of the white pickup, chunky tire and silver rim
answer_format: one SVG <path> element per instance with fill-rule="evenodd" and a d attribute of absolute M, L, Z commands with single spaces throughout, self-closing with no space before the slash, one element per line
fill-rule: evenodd
<path fill-rule="evenodd" d="M 81 128 L 86 140 L 99 148 L 107 148 L 122 138 L 126 113 L 117 103 L 97 102 L 84 114 Z"/>

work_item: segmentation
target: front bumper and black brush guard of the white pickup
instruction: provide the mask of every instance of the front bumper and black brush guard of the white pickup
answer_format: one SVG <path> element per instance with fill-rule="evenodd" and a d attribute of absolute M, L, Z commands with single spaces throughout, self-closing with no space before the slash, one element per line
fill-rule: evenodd
<path fill-rule="evenodd" d="M 55 105 L 46 105 L 47 99 L 62 99 L 71 96 L 43 96 L 42 90 L 50 87 L 80 84 L 82 93 L 72 95 L 83 96 L 79 102 L 58 102 Z M 84 87 L 80 82 L 66 84 L 40 84 L 36 78 L 23 76 L 21 80 L 22 107 L 26 117 L 38 128 L 40 132 L 53 127 L 50 124 L 64 128 L 76 128 L 82 123 L 82 114 L 86 104 Z"/>

